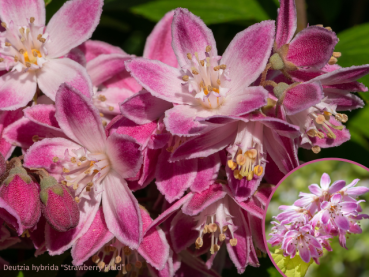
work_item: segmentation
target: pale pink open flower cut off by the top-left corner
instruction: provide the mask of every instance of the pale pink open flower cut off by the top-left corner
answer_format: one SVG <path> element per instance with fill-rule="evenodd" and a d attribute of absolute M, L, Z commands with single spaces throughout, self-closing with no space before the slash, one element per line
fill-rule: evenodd
<path fill-rule="evenodd" d="M 86 41 L 96 28 L 102 0 L 68 1 L 45 26 L 43 0 L 0 1 L 0 109 L 15 110 L 32 100 L 37 86 L 52 100 L 59 86 L 68 82 L 90 96 L 86 70 L 61 58 Z"/>

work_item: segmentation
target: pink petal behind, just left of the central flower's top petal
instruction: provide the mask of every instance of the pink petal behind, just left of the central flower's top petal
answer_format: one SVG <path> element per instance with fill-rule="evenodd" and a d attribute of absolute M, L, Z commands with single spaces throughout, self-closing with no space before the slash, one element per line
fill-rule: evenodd
<path fill-rule="evenodd" d="M 146 39 L 143 57 L 178 67 L 177 58 L 172 48 L 173 16 L 174 11 L 167 12 L 156 24 Z"/>

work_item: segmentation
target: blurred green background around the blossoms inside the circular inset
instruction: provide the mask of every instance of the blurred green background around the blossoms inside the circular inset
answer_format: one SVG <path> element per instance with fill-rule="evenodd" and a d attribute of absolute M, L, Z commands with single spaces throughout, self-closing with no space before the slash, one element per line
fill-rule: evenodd
<path fill-rule="evenodd" d="M 357 186 L 369 187 L 369 172 L 362 167 L 344 161 L 325 160 L 308 164 L 289 175 L 275 191 L 267 210 L 265 232 L 267 239 L 271 233 L 272 216 L 281 211 L 280 205 L 292 205 L 298 199 L 299 192 L 309 193 L 308 186 L 320 184 L 320 177 L 328 173 L 332 183 L 336 180 L 345 180 L 346 184 L 360 179 Z M 369 193 L 359 197 L 366 202 L 361 203 L 363 213 L 369 214 Z M 347 240 L 348 250 L 339 245 L 338 237 L 331 239 L 332 252 L 324 251 L 320 265 L 313 263 L 307 271 L 306 277 L 368 277 L 369 276 L 369 220 L 361 221 L 362 234 L 352 234 Z M 270 247 L 274 252 L 278 247 Z M 278 275 L 276 275 L 278 276 Z"/>

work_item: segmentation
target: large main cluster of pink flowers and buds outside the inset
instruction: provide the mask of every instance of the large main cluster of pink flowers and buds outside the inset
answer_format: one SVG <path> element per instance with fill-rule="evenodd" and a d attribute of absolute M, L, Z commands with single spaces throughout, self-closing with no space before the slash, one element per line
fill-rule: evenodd
<path fill-rule="evenodd" d="M 89 40 L 103 0 L 67 1 L 47 26 L 44 5 L 0 0 L 0 249 L 31 239 L 131 276 L 219 276 L 225 251 L 239 273 L 259 266 L 269 184 L 299 147 L 350 138 L 338 111 L 363 107 L 369 65 L 336 65 L 329 28 L 294 37 L 293 0 L 222 56 L 187 9 L 136 57 Z"/>

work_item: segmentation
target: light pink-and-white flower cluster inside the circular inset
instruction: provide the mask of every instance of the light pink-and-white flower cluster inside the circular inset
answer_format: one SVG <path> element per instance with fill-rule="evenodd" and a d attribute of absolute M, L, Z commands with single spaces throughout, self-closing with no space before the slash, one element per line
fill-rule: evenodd
<path fill-rule="evenodd" d="M 360 234 L 360 220 L 369 218 L 360 214 L 364 200 L 358 200 L 369 189 L 356 187 L 358 182 L 355 179 L 346 186 L 345 181 L 338 180 L 331 184 L 324 173 L 320 186 L 309 186 L 311 193 L 300 192 L 300 199 L 292 206 L 279 207 L 283 212 L 274 217 L 277 221 L 272 222 L 268 243 L 280 246 L 284 256 L 293 258 L 298 252 L 305 263 L 312 258 L 317 264 L 323 248 L 332 251 L 329 239 L 338 236 L 340 245 L 346 248 L 346 237 Z"/>

